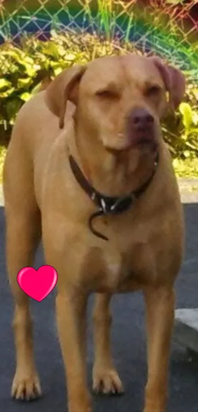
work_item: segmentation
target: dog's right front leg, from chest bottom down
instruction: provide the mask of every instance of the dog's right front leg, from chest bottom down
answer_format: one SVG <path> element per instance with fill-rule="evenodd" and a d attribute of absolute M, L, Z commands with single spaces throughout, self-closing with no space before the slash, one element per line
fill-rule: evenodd
<path fill-rule="evenodd" d="M 165 412 L 174 320 L 174 291 L 172 287 L 146 288 L 144 297 L 148 356 L 144 412 Z"/>

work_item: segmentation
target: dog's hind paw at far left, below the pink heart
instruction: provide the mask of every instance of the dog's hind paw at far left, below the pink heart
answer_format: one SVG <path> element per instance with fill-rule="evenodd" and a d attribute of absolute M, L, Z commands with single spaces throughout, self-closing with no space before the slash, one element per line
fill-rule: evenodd
<path fill-rule="evenodd" d="M 41 395 L 41 385 L 36 373 L 22 375 L 16 372 L 11 389 L 12 398 L 31 401 L 41 397 Z"/>

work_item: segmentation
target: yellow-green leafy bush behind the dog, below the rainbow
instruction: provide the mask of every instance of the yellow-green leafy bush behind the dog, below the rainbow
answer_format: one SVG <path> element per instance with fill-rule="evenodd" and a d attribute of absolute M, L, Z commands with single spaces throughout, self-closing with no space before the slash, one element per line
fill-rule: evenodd
<path fill-rule="evenodd" d="M 11 43 L 0 47 L 0 137 L 9 140 L 16 114 L 24 102 L 48 78 L 54 78 L 74 63 L 86 63 L 103 55 L 135 52 L 132 43 L 121 45 L 89 34 L 57 34 L 52 41 L 42 42 L 34 37 L 22 41 L 18 48 Z M 188 80 L 185 101 L 175 116 L 163 123 L 164 138 L 173 158 L 192 158 L 198 155 L 198 87 Z M 2 133 L 3 132 L 3 133 Z M 2 137 L 1 137 L 2 138 Z"/>

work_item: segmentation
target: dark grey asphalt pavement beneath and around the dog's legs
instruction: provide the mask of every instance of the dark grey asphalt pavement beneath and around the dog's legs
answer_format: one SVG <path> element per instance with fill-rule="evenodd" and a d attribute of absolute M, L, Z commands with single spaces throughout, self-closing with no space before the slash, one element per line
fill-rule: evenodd
<path fill-rule="evenodd" d="M 180 181 L 186 220 L 186 253 L 176 282 L 176 307 L 198 307 L 198 181 Z M 197 188 L 197 189 L 196 189 Z M 42 399 L 23 403 L 10 399 L 15 368 L 11 320 L 13 303 L 5 268 L 5 221 L 0 196 L 0 412 L 66 412 L 63 363 L 57 339 L 53 292 L 43 302 L 31 302 L 34 347 L 43 389 Z M 20 239 L 19 239 L 20 242 Z M 44 264 L 38 250 L 35 267 Z M 93 344 L 88 305 L 88 382 L 91 387 Z M 115 365 L 125 387 L 121 396 L 93 396 L 94 412 L 141 412 L 146 379 L 146 340 L 141 293 L 117 295 L 112 301 L 112 342 Z M 168 412 L 197 412 L 198 357 L 172 344 Z"/>

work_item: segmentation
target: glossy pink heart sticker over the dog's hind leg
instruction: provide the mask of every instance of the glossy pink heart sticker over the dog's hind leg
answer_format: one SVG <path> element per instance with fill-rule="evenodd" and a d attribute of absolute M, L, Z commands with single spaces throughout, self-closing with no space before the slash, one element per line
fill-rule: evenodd
<path fill-rule="evenodd" d="M 49 265 L 40 266 L 37 271 L 27 266 L 22 268 L 17 275 L 20 288 L 37 302 L 41 302 L 52 292 L 57 279 L 57 271 Z"/>

